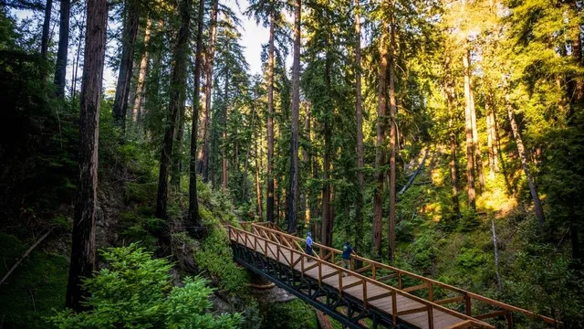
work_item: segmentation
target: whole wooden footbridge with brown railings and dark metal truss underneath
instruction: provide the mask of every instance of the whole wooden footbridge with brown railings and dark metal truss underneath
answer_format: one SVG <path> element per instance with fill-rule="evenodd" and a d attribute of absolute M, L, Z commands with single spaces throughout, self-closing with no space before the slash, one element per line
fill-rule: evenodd
<path fill-rule="evenodd" d="M 235 261 L 349 328 L 513 328 L 514 314 L 560 325 L 358 255 L 351 256 L 350 270 L 345 270 L 339 266 L 339 249 L 314 243 L 314 256 L 309 256 L 304 239 L 272 223 L 240 224 L 243 229 L 226 227 Z"/>

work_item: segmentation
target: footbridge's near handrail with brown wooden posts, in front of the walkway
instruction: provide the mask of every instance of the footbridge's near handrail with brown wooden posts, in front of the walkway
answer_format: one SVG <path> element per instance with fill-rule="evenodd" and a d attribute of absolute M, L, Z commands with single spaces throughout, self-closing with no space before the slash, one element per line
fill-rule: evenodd
<path fill-rule="evenodd" d="M 264 254 L 266 256 L 267 256 L 267 249 L 268 249 L 267 242 L 274 243 L 274 241 L 272 241 L 270 239 L 266 239 L 264 237 L 261 237 L 259 235 L 254 234 L 252 232 L 248 232 L 245 229 L 235 228 L 235 227 L 233 227 L 231 225 L 227 225 L 225 227 L 228 229 L 228 236 L 229 236 L 229 239 L 230 240 L 232 239 L 232 231 L 235 231 L 236 232 L 236 234 L 235 234 L 235 241 L 237 243 L 239 243 L 239 241 L 240 241 L 239 238 L 240 238 L 241 233 L 245 234 L 245 236 L 247 236 L 247 235 L 253 236 L 255 238 L 255 242 L 257 240 L 264 241 L 265 248 L 263 249 L 263 251 L 264 251 Z M 246 242 L 249 241 L 249 239 L 245 238 L 245 239 L 243 239 L 243 241 L 244 241 L 244 244 L 246 245 Z M 254 245 L 254 249 L 255 250 L 257 249 L 256 243 Z M 262 249 L 261 246 L 260 246 L 260 249 Z M 286 250 L 288 250 L 290 252 L 290 258 L 291 258 L 291 260 L 290 261 L 287 260 L 288 265 L 290 265 L 290 267 L 294 268 L 294 266 L 297 265 L 297 262 L 300 261 L 300 269 L 301 269 L 301 272 L 302 272 L 303 275 L 304 275 L 304 272 L 305 272 L 305 267 L 304 267 L 305 266 L 305 261 L 304 260 L 305 259 L 309 259 L 309 260 L 315 261 L 315 264 L 310 265 L 310 266 L 312 268 L 316 268 L 318 266 L 318 284 L 321 284 L 322 283 L 322 280 L 328 278 L 328 276 L 327 277 L 324 277 L 322 275 L 321 269 L 322 269 L 322 264 L 323 263 L 326 263 L 326 265 L 328 267 L 332 267 L 333 269 L 337 270 L 336 273 L 339 275 L 339 288 L 338 288 L 339 289 L 339 294 L 342 294 L 343 293 L 343 285 L 342 285 L 342 274 L 343 273 L 348 273 L 350 276 L 353 276 L 355 278 L 360 279 L 360 282 L 361 282 L 361 284 L 363 286 L 363 307 L 364 308 L 367 308 L 368 307 L 368 301 L 371 300 L 371 298 L 369 298 L 369 299 L 367 298 L 367 290 L 368 290 L 368 288 L 367 288 L 367 282 L 370 282 L 371 284 L 374 284 L 374 285 L 378 285 L 378 286 L 380 286 L 380 287 L 382 287 L 382 288 L 390 291 L 391 292 L 391 298 L 392 298 L 391 304 L 392 304 L 392 310 L 393 310 L 392 316 L 393 316 L 394 323 L 396 323 L 397 316 L 398 315 L 401 315 L 399 312 L 397 312 L 396 296 L 399 294 L 399 295 L 401 295 L 403 297 L 406 297 L 408 299 L 411 299 L 412 301 L 420 302 L 420 303 L 422 303 L 427 308 L 426 311 L 428 312 L 428 323 L 429 323 L 429 327 L 430 328 L 433 328 L 433 309 L 436 309 L 436 310 L 442 311 L 443 313 L 449 313 L 451 315 L 454 315 L 454 316 L 460 318 L 461 321 L 463 321 L 463 322 L 469 322 L 470 321 L 473 324 L 478 325 L 478 326 L 483 327 L 483 328 L 495 329 L 495 326 L 493 326 L 491 324 L 486 324 L 485 322 L 482 322 L 480 320 L 474 319 L 473 317 L 468 316 L 468 315 L 466 315 L 464 313 L 458 313 L 458 312 L 456 312 L 454 310 L 451 310 L 449 308 L 443 307 L 442 305 L 439 305 L 437 303 L 426 301 L 426 300 L 424 300 L 424 299 L 422 299 L 422 298 L 420 298 L 418 296 L 412 295 L 409 292 L 404 292 L 404 291 L 402 291 L 400 289 L 391 287 L 390 285 L 387 285 L 387 284 L 382 283 L 380 281 L 375 281 L 375 280 L 373 280 L 371 278 L 368 278 L 366 276 L 363 276 L 363 275 L 361 275 L 358 272 L 346 270 L 346 269 L 344 269 L 344 268 L 342 268 L 342 267 L 340 267 L 340 266 L 338 266 L 338 265 L 336 265 L 334 263 L 329 263 L 326 260 L 320 260 L 320 259 L 318 259 L 316 257 L 313 257 L 313 256 L 308 255 L 307 253 L 305 253 L 305 252 L 303 252 L 301 250 L 288 248 L 288 247 L 283 246 L 283 245 L 281 245 L 279 243 L 276 243 L 276 260 L 277 261 L 280 261 L 280 254 L 284 255 L 284 253 L 282 253 L 280 249 L 286 249 Z M 274 252 L 274 250 L 271 250 L 271 251 Z M 294 257 L 292 257 L 292 253 L 296 253 L 297 255 L 300 255 L 299 260 L 297 260 L 296 262 L 294 262 Z M 317 265 L 317 266 L 315 266 L 315 265 Z M 310 268 L 308 268 L 308 269 L 310 269 Z M 354 283 L 352 283 L 352 284 L 354 284 Z M 347 287 L 345 287 L 345 288 L 347 288 Z M 390 295 L 381 294 L 381 295 L 378 295 L 378 296 L 389 297 Z M 372 297 L 372 298 L 375 298 L 375 299 L 382 298 L 382 297 L 378 297 L 378 296 L 375 296 L 375 297 Z M 409 311 L 412 311 L 412 310 L 409 310 Z M 419 310 L 414 310 L 414 311 L 419 311 Z M 405 313 L 402 313 L 402 314 L 405 314 Z"/>

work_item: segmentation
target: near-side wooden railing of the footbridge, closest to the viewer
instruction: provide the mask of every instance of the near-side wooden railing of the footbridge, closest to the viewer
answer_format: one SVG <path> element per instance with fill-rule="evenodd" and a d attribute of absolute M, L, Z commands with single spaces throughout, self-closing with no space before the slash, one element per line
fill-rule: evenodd
<path fill-rule="evenodd" d="M 247 223 L 246 223 L 247 224 Z M 244 225 L 245 227 L 248 227 L 247 225 Z M 257 228 L 265 228 L 263 226 L 260 225 L 255 225 L 252 224 L 252 227 L 256 228 L 256 231 L 261 231 L 261 229 L 257 229 Z M 453 315 L 454 317 L 457 317 L 460 319 L 460 325 L 463 325 L 463 327 L 469 327 L 466 324 L 469 324 L 472 327 L 478 327 L 478 328 L 489 328 L 489 329 L 495 329 L 495 326 L 491 325 L 491 324 L 486 324 L 480 320 L 474 319 L 471 316 L 468 316 L 464 313 L 458 313 L 455 312 L 451 309 L 448 309 L 446 307 L 443 307 L 440 304 L 437 304 L 435 302 L 430 302 L 430 301 L 426 301 L 420 297 L 414 296 L 409 292 L 405 292 L 403 290 L 400 289 L 396 289 L 394 287 L 391 287 L 390 285 L 387 285 L 385 283 L 382 283 L 380 281 L 375 281 L 374 279 L 371 279 L 369 277 L 363 276 L 361 274 L 359 274 L 356 271 L 349 271 L 346 270 L 340 266 L 338 266 L 337 264 L 328 262 L 328 260 L 322 260 L 319 259 L 317 257 L 314 256 L 309 256 L 307 253 L 303 252 L 301 249 L 298 250 L 297 248 L 291 247 L 291 246 L 286 246 L 284 244 L 279 243 L 279 239 L 271 239 L 271 238 L 267 238 L 267 237 L 262 237 L 260 235 L 257 235 L 255 233 L 249 232 L 245 229 L 241 229 L 241 228 L 235 228 L 233 226 L 226 226 L 227 230 L 228 230 L 228 235 L 229 235 L 229 239 L 231 240 L 235 240 L 235 242 L 243 244 L 244 246 L 246 246 L 247 248 L 250 248 L 250 246 L 253 246 L 253 249 L 255 249 L 255 251 L 260 250 L 260 252 L 262 252 L 266 257 L 275 257 L 275 259 L 279 262 L 282 263 L 287 263 L 288 266 L 290 266 L 291 269 L 295 269 L 297 267 L 297 264 L 300 264 L 300 272 L 302 273 L 302 275 L 305 274 L 306 271 L 310 271 L 313 269 L 318 269 L 317 271 L 317 280 L 318 280 L 318 284 L 322 284 L 322 281 L 328 278 L 331 278 L 335 275 L 338 276 L 339 281 L 338 281 L 338 287 L 336 287 L 336 289 L 339 292 L 339 295 L 342 295 L 344 293 L 345 290 L 349 289 L 349 288 L 353 288 L 353 287 L 358 287 L 358 286 L 362 286 L 362 302 L 363 302 L 363 308 L 366 309 L 368 307 L 370 307 L 369 302 L 381 299 L 381 298 L 385 298 L 385 297 L 391 297 L 391 317 L 393 319 L 393 323 L 397 324 L 397 318 L 401 315 L 405 315 L 405 314 L 411 314 L 411 313 L 421 313 L 421 312 L 426 312 L 428 314 L 428 327 L 430 329 L 433 329 L 433 312 L 435 310 L 438 311 L 442 311 L 443 313 L 448 313 Z M 265 228 L 267 230 L 270 230 L 272 232 L 270 232 L 271 234 L 268 235 L 268 237 L 275 237 L 276 236 L 276 230 L 273 230 L 271 228 Z M 285 237 L 286 239 L 289 239 L 292 236 L 289 236 L 286 233 L 283 232 L 279 232 L 282 233 L 288 237 Z M 294 237 L 296 238 L 296 237 Z M 270 246 L 270 244 L 276 245 L 276 250 L 273 249 L 272 246 Z M 324 247 L 324 246 L 322 246 Z M 328 247 L 322 248 L 322 249 L 329 249 Z M 268 255 L 268 250 L 271 252 Z M 338 250 L 336 250 L 338 251 Z M 308 262 L 311 262 L 310 264 L 308 264 Z M 322 267 L 323 265 L 328 266 L 329 268 L 333 268 L 335 271 L 325 274 L 323 275 L 322 273 Z M 352 282 L 350 284 L 344 285 L 343 286 L 343 275 L 347 275 L 349 274 L 351 277 L 358 279 L 358 281 Z M 374 285 L 377 285 L 385 290 L 387 290 L 387 292 L 372 296 L 372 297 L 368 297 L 368 286 L 367 283 L 372 283 Z M 415 302 L 420 302 L 422 303 L 422 308 L 418 308 L 418 309 L 411 309 L 411 310 L 406 310 L 403 312 L 398 312 L 398 308 L 397 308 L 397 296 L 403 296 L 405 298 L 411 299 L 412 301 Z M 458 325 L 453 326 L 453 328 L 459 328 Z"/>

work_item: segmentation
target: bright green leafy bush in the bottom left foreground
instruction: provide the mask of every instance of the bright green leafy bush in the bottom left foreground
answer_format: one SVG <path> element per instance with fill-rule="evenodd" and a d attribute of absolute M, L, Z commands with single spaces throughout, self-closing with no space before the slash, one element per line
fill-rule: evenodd
<path fill-rule="evenodd" d="M 110 267 L 86 279 L 90 311 L 57 313 L 48 320 L 57 328 L 235 328 L 239 314 L 209 313 L 212 289 L 201 278 L 172 286 L 168 260 L 152 259 L 136 245 L 101 253 Z"/>

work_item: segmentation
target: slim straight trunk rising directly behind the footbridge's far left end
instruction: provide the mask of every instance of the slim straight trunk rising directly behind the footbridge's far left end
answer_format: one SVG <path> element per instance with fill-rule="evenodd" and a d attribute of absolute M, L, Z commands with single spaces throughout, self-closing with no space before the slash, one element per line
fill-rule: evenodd
<path fill-rule="evenodd" d="M 270 40 L 267 58 L 267 197 L 266 219 L 274 222 L 274 19 L 270 14 Z"/>

